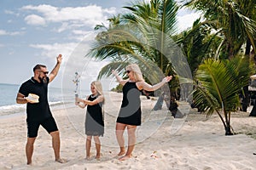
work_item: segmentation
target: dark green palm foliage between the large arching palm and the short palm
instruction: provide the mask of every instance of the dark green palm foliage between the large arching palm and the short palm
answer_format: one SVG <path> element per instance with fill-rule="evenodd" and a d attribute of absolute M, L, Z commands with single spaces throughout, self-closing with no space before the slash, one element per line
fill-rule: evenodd
<path fill-rule="evenodd" d="M 212 34 L 210 23 L 201 22 L 201 18 L 195 20 L 193 26 L 182 31 L 174 37 L 175 42 L 183 49 L 187 57 L 192 73 L 198 68 L 203 59 L 216 56 L 218 44 L 222 41 L 218 33 Z"/>

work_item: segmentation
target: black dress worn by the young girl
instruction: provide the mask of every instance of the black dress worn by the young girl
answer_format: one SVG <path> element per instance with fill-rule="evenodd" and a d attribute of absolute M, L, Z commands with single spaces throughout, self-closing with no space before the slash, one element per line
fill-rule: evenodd
<path fill-rule="evenodd" d="M 88 100 L 93 101 L 98 96 L 90 97 Z M 96 105 L 87 105 L 85 116 L 85 134 L 88 136 L 103 136 L 104 134 L 104 121 L 102 113 L 102 102 Z"/>

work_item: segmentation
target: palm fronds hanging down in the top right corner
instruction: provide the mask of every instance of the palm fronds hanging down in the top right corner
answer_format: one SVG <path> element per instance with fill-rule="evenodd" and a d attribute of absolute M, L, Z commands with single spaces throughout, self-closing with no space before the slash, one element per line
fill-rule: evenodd
<path fill-rule="evenodd" d="M 212 28 L 224 38 L 224 43 L 221 44 L 223 46 L 222 53 L 229 59 L 239 53 L 241 46 L 247 40 L 255 49 L 256 22 L 252 18 L 255 15 L 253 13 L 255 12 L 255 1 L 242 2 L 235 0 L 190 0 L 184 4 L 186 7 L 201 11 L 204 18 L 208 22 L 212 22 Z M 250 5 L 250 7 L 245 4 Z"/>

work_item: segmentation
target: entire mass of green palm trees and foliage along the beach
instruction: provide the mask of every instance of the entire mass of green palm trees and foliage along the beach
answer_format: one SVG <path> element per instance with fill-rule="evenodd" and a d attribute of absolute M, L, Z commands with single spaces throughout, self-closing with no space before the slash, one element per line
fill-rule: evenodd
<path fill-rule="evenodd" d="M 239 94 L 248 105 L 248 68 L 256 59 L 256 2 L 189 0 L 179 6 L 175 0 L 151 0 L 124 8 L 125 14 L 108 19 L 109 26 L 96 26 L 99 32 L 88 55 L 109 61 L 98 78 L 137 63 L 152 84 L 175 75 L 171 86 L 162 90 L 177 94 L 187 89 L 182 99 L 192 92 L 193 79 L 196 105 L 209 115 L 216 112 L 226 134 L 231 134 L 230 113 L 241 105 Z M 180 8 L 201 13 L 185 31 L 177 30 Z"/>

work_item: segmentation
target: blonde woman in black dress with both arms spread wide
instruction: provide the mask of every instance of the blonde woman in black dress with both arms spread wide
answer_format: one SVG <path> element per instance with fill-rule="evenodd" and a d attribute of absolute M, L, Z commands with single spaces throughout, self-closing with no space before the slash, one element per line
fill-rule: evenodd
<path fill-rule="evenodd" d="M 119 160 L 124 161 L 131 158 L 132 151 L 136 144 L 136 129 L 141 125 L 141 90 L 154 91 L 162 87 L 172 79 L 172 76 L 165 77 L 161 82 L 154 86 L 148 84 L 143 79 L 143 74 L 136 64 L 126 66 L 126 74 L 129 77 L 123 80 L 116 71 L 112 71 L 119 84 L 123 86 L 123 100 L 119 116 L 116 121 L 116 138 L 119 143 Z M 128 148 L 125 150 L 124 131 L 127 127 Z"/>

